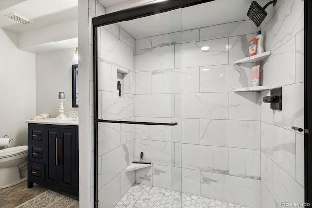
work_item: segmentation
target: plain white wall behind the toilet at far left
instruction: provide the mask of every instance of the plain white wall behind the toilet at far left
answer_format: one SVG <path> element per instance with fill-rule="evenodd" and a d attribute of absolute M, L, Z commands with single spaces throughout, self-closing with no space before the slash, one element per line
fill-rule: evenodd
<path fill-rule="evenodd" d="M 13 138 L 11 146 L 27 145 L 25 120 L 36 115 L 35 54 L 17 48 L 17 34 L 0 34 L 0 137 Z"/>

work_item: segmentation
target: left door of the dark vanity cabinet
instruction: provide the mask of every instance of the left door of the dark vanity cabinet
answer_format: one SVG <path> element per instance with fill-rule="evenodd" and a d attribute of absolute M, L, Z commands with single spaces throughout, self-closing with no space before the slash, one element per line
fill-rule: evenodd
<path fill-rule="evenodd" d="M 59 185 L 59 128 L 46 128 L 48 138 L 48 164 L 46 181 Z"/>

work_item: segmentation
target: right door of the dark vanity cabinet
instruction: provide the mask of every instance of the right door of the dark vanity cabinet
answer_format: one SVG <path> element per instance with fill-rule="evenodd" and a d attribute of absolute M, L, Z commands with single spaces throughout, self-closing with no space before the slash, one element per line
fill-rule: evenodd
<path fill-rule="evenodd" d="M 60 186 L 75 189 L 77 182 L 75 181 L 76 172 L 76 130 L 69 128 L 60 129 L 60 162 L 62 170 L 59 179 Z"/>

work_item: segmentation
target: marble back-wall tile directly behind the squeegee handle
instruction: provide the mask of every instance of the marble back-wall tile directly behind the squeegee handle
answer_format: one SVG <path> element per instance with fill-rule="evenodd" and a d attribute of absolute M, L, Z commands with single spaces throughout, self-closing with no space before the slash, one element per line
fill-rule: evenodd
<path fill-rule="evenodd" d="M 140 153 L 144 153 L 144 160 L 153 164 L 171 166 L 173 164 L 173 149 L 171 142 L 136 139 L 136 160 L 140 159 Z"/>

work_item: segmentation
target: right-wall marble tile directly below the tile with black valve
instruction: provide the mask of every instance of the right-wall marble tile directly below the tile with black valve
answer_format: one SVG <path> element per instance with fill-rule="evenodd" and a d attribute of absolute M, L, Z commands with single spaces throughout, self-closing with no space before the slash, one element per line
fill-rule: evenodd
<path fill-rule="evenodd" d="M 287 129 L 261 122 L 261 151 L 296 178 L 296 135 Z"/>

